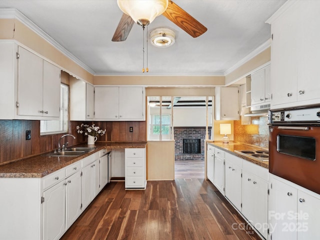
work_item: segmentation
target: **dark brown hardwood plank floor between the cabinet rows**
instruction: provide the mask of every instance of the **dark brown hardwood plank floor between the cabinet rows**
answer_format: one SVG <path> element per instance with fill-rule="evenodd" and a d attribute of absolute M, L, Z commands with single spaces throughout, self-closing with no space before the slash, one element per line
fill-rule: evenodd
<path fill-rule="evenodd" d="M 260 238 L 211 182 L 186 174 L 148 181 L 145 190 L 125 190 L 123 181 L 108 183 L 61 239 Z"/>

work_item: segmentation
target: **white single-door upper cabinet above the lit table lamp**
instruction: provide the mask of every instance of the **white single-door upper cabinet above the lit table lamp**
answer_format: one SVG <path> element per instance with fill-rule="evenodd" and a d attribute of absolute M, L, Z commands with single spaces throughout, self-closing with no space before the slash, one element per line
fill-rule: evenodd
<path fill-rule="evenodd" d="M 239 120 L 238 87 L 215 87 L 215 120 Z"/>

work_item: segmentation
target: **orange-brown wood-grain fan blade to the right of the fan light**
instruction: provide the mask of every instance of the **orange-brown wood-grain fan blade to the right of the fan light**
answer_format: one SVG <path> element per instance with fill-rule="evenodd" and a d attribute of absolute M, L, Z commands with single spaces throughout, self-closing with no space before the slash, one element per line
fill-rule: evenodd
<path fill-rule="evenodd" d="M 189 13 L 184 11 L 181 7 L 179 7 L 171 0 L 169 0 L 168 7 L 162 13 L 162 15 L 168 18 L 170 21 L 172 21 L 192 37 L 197 37 L 207 30 L 205 26 L 195 20 Z"/>

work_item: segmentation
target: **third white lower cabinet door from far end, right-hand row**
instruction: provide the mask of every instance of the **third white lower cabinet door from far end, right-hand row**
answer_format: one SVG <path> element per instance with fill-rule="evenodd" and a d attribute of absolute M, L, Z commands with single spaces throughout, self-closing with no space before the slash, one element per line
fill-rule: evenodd
<path fill-rule="evenodd" d="M 225 196 L 241 209 L 241 168 L 225 159 Z"/>

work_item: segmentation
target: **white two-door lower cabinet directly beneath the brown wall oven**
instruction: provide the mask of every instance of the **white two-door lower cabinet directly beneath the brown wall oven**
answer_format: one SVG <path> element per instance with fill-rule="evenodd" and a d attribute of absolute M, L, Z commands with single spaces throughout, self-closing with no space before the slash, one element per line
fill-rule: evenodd
<path fill-rule="evenodd" d="M 268 239 L 320 239 L 320 195 L 272 174 L 270 183 Z"/>

